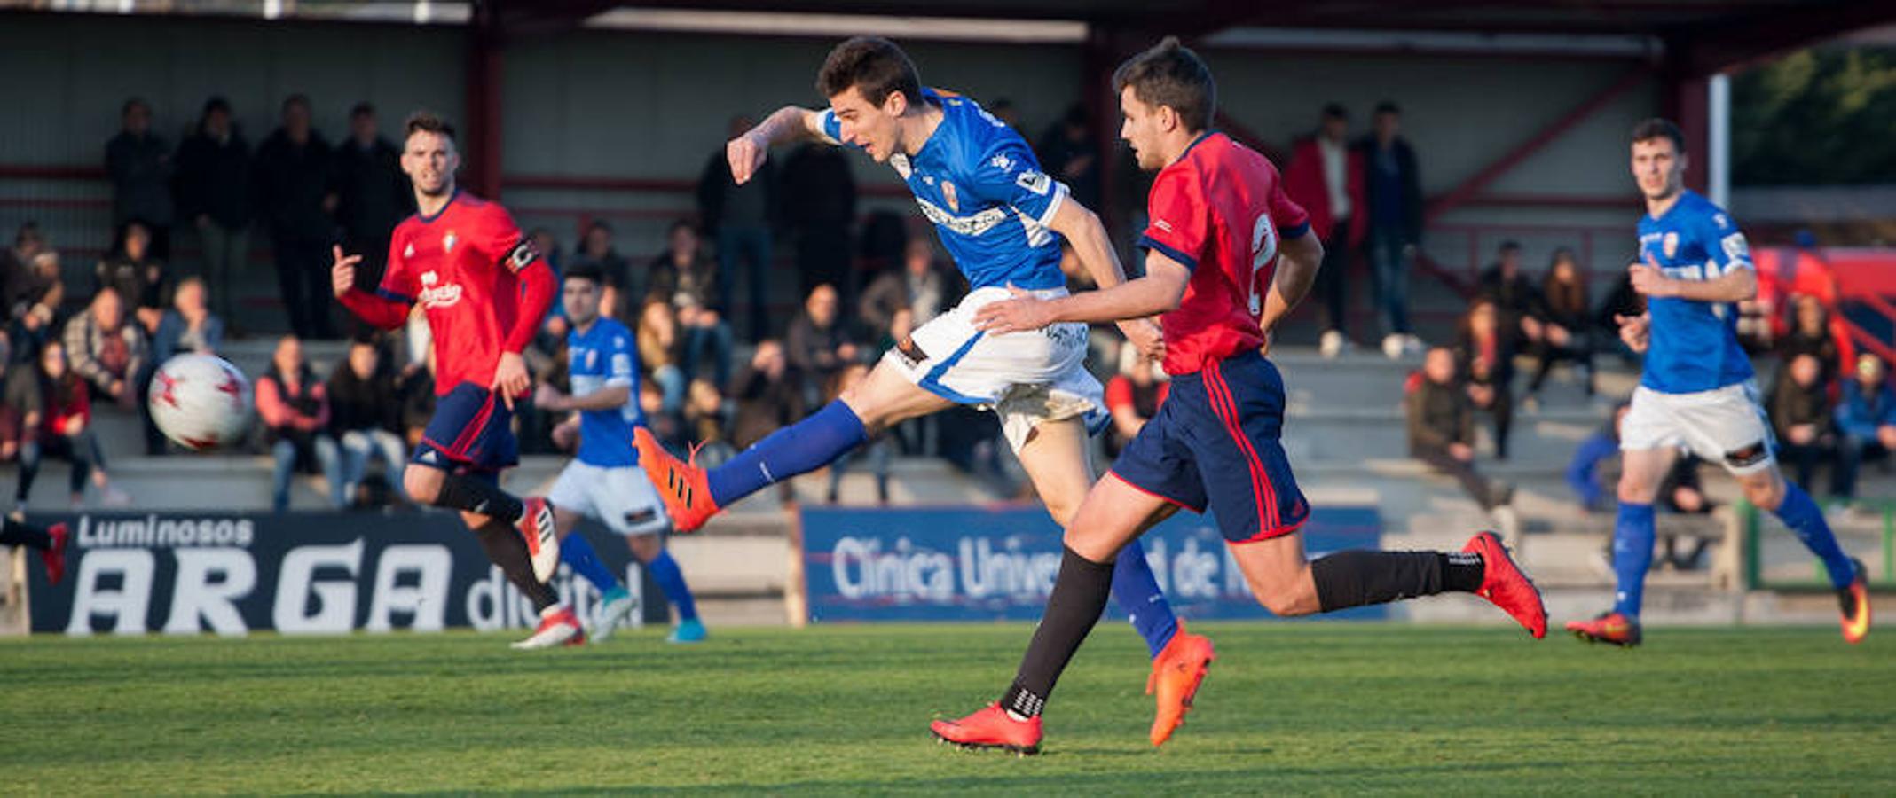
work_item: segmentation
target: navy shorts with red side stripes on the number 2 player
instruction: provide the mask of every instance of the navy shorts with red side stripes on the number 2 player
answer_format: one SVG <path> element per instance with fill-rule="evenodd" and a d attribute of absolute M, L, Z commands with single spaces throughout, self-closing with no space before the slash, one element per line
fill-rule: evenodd
<path fill-rule="evenodd" d="M 1295 533 L 1310 517 L 1284 457 L 1284 377 L 1246 353 L 1172 377 L 1158 413 L 1113 462 L 1121 481 L 1217 517 L 1231 542 Z"/>

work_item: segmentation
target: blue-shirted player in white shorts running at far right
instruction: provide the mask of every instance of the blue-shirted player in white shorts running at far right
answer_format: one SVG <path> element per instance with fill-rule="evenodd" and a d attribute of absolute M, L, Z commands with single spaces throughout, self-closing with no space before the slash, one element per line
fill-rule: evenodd
<path fill-rule="evenodd" d="M 1589 643 L 1640 644 L 1640 595 L 1653 559 L 1653 497 L 1678 449 L 1720 461 L 1744 499 L 1769 510 L 1824 561 L 1843 605 L 1843 639 L 1869 635 L 1862 563 L 1837 546 L 1809 493 L 1784 481 L 1773 455 L 1752 362 L 1737 337 L 1737 303 L 1758 294 L 1744 233 L 1723 209 L 1684 188 L 1686 136 L 1667 119 L 1632 129 L 1632 178 L 1646 195 L 1632 288 L 1646 313 L 1619 317 L 1619 337 L 1646 353 L 1640 387 L 1619 428 L 1619 519 L 1613 525 L 1613 608 L 1568 631 Z"/>

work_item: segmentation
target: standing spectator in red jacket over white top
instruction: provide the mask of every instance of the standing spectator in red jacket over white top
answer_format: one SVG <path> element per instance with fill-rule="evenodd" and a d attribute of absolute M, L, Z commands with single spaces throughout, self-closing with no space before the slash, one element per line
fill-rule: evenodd
<path fill-rule="evenodd" d="M 1316 296 L 1323 311 L 1323 356 L 1350 347 L 1350 254 L 1363 246 L 1369 214 L 1363 209 L 1363 150 L 1350 146 L 1350 112 L 1323 106 L 1316 135 L 1291 146 L 1284 190 L 1310 212 L 1310 231 L 1323 243 Z"/>

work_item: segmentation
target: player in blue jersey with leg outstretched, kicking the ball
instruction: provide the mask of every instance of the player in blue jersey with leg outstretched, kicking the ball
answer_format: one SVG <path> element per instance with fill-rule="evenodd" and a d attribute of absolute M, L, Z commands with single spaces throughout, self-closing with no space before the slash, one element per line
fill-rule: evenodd
<path fill-rule="evenodd" d="M 679 531 L 764 485 L 829 464 L 872 430 L 956 404 L 1001 417 L 1014 455 L 1066 525 L 1092 487 L 1086 438 L 1109 421 L 1100 383 L 1086 372 L 1086 326 L 1054 324 L 1031 336 L 990 336 L 975 313 L 1009 290 L 1066 294 L 1062 245 L 1102 286 L 1124 282 L 1105 227 L 1067 188 L 1041 172 L 1033 150 L 973 100 L 923 89 L 895 44 L 851 38 L 823 61 L 817 91 L 829 108 L 781 108 L 726 144 L 739 184 L 772 144 L 848 144 L 895 167 L 967 277 L 959 305 L 899 341 L 857 387 L 815 415 L 757 442 L 730 462 L 702 470 L 665 455 L 639 430 L 639 462 L 652 476 Z M 1162 353 L 1149 318 L 1121 322 L 1149 356 Z M 1113 593 L 1153 654 L 1147 690 L 1157 696 L 1151 741 L 1164 743 L 1212 662 L 1212 641 L 1185 633 L 1138 546 L 1117 559 Z"/>

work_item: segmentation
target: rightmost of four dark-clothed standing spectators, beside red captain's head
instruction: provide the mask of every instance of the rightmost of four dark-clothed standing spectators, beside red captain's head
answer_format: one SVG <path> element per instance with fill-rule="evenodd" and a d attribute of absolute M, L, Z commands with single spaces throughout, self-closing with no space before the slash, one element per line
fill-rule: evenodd
<path fill-rule="evenodd" d="M 336 148 L 326 210 L 343 229 L 343 250 L 360 252 L 356 286 L 374 290 L 389 267 L 389 237 L 415 212 L 415 191 L 402 174 L 402 154 L 381 136 L 375 106 L 349 110 L 349 138 Z"/>

